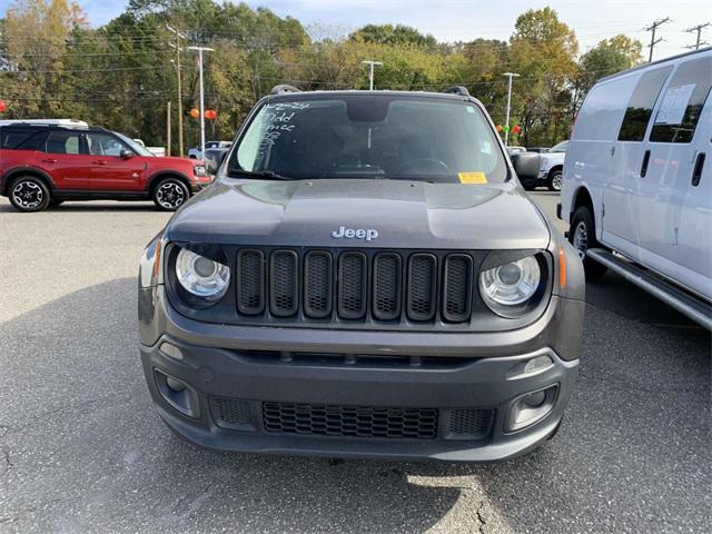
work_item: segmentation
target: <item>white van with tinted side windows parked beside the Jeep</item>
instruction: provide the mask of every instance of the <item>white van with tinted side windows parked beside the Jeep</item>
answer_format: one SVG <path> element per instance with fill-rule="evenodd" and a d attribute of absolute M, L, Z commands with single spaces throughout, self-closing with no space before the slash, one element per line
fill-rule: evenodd
<path fill-rule="evenodd" d="M 589 279 L 606 268 L 712 329 L 712 48 L 599 81 L 558 207 Z"/>

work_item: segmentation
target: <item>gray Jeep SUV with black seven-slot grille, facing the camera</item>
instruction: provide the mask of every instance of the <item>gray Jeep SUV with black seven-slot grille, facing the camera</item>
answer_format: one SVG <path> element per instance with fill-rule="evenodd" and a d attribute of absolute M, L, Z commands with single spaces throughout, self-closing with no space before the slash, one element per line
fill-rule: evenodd
<path fill-rule="evenodd" d="M 463 88 L 276 88 L 139 273 L 158 413 L 220 451 L 528 452 L 561 424 L 583 313 L 578 257 Z"/>

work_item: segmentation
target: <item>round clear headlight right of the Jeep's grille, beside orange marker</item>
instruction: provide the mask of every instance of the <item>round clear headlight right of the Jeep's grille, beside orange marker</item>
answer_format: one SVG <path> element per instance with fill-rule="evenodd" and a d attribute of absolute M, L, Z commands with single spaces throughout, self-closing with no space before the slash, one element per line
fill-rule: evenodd
<path fill-rule="evenodd" d="M 503 317 L 526 313 L 545 285 L 543 265 L 536 256 L 525 256 L 479 273 L 482 299 Z"/>

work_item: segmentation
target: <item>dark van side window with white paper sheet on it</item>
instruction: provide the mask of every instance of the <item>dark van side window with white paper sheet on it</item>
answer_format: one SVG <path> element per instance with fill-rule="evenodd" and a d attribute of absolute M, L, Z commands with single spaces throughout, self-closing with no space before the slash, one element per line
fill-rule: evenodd
<path fill-rule="evenodd" d="M 652 142 L 690 142 L 712 86 L 712 57 L 685 61 L 678 67 L 660 102 Z"/>

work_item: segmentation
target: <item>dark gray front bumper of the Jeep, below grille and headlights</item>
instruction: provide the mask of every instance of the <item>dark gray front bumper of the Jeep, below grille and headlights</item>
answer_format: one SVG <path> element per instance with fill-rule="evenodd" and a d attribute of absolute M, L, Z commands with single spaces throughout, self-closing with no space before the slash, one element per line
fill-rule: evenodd
<path fill-rule="evenodd" d="M 554 298 L 547 313 L 522 330 L 421 337 L 413 333 L 207 325 L 180 316 L 161 286 L 141 289 L 139 298 L 144 300 L 141 360 L 159 415 L 181 437 L 218 451 L 500 461 L 532 451 L 555 432 L 578 367 L 583 303 L 575 300 Z M 382 334 L 390 343 L 385 344 Z M 568 339 L 548 343 L 562 335 Z M 352 336 L 362 339 L 358 347 Z M 325 343 L 327 338 L 329 343 Z M 356 354 L 372 357 L 348 360 L 289 356 L 293 350 L 353 354 L 356 348 Z M 576 357 L 572 357 L 574 353 Z M 399 363 L 394 354 L 422 355 L 428 364 L 414 366 L 407 356 Z M 390 356 L 388 363 L 378 363 L 379 355 Z M 536 374 L 512 376 L 513 369 L 537 355 L 548 355 L 553 365 Z M 161 383 L 165 376 L 188 386 L 190 415 L 177 409 L 166 396 Z M 518 432 L 505 432 L 507 413 L 517 397 L 554 385 L 556 397 L 545 417 Z M 225 424 L 225 414 L 216 408 L 216 403 L 225 402 L 235 402 L 234 406 L 244 411 L 238 425 Z M 265 424 L 267 404 L 322 406 L 327 411 L 336 406 L 433 408 L 437 422 L 435 434 L 427 438 L 274 432 Z M 455 414 L 473 409 L 488 413 L 490 419 L 475 434 L 454 434 Z"/>

